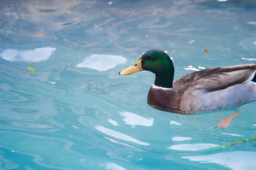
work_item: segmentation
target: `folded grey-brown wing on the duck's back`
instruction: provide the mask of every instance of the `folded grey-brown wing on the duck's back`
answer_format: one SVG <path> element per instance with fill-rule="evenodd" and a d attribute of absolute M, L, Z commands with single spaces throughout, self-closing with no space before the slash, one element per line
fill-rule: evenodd
<path fill-rule="evenodd" d="M 255 76 L 256 64 L 244 64 L 231 67 L 215 67 L 192 72 L 174 81 L 174 88 L 204 89 L 206 91 L 217 91 L 244 84 L 251 81 Z"/>

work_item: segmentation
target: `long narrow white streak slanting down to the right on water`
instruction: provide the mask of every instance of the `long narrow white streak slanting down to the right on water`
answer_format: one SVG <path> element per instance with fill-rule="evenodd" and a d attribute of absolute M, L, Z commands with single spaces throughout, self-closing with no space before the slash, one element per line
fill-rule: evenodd
<path fill-rule="evenodd" d="M 146 143 L 146 142 L 142 142 L 142 141 L 136 140 L 136 139 L 133 138 L 133 137 L 130 137 L 130 136 L 128 136 L 128 135 L 125 135 L 125 134 L 123 134 L 123 133 L 121 133 L 121 132 L 117 132 L 117 131 L 114 131 L 114 130 L 110 130 L 110 129 L 105 128 L 105 127 L 103 127 L 103 126 L 101 126 L 101 125 L 97 125 L 97 126 L 95 127 L 95 129 L 96 129 L 96 130 L 99 130 L 100 132 L 105 133 L 106 135 L 110 135 L 110 136 L 112 136 L 112 137 L 116 137 L 116 138 L 118 138 L 118 139 L 120 139 L 120 140 L 127 140 L 127 141 L 129 141 L 129 142 L 134 142 L 134 143 L 137 143 L 137 144 L 139 144 L 139 145 L 149 145 L 149 144 Z"/>

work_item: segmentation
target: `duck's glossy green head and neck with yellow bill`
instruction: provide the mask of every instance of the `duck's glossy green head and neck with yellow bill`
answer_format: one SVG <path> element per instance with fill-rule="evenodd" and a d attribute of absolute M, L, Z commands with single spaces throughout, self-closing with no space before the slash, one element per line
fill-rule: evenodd
<path fill-rule="evenodd" d="M 166 52 L 149 50 L 131 67 L 123 69 L 119 75 L 128 75 L 134 72 L 147 70 L 156 74 L 156 86 L 171 88 L 174 80 L 174 64 Z"/>

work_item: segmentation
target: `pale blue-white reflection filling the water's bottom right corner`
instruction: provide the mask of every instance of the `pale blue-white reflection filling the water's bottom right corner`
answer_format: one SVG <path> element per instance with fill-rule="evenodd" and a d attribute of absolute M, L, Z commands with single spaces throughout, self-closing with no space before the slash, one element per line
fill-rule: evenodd
<path fill-rule="evenodd" d="M 233 170 L 255 169 L 256 152 L 226 152 L 218 154 L 208 154 L 203 156 L 182 157 L 194 162 L 215 163 Z"/>

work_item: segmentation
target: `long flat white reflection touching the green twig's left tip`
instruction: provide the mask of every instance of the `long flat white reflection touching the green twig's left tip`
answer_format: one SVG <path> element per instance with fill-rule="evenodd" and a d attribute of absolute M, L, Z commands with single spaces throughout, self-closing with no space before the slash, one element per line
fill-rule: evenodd
<path fill-rule="evenodd" d="M 181 144 L 181 145 L 172 145 L 171 147 L 167 147 L 167 149 L 180 150 L 180 151 L 200 151 L 200 150 L 210 149 L 218 146 L 219 145 L 210 144 L 210 143 Z"/>

